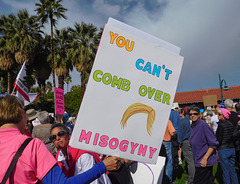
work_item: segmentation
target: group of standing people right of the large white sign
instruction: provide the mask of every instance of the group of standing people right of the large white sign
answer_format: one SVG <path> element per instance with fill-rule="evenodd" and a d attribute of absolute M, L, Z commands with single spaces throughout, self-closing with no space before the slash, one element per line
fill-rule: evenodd
<path fill-rule="evenodd" d="M 226 99 L 216 107 L 206 107 L 204 112 L 195 105 L 173 107 L 163 147 L 167 158 L 163 183 L 174 183 L 174 171 L 184 159 L 186 183 L 213 184 L 213 166 L 219 164 L 224 184 L 238 184 L 240 103 Z"/>

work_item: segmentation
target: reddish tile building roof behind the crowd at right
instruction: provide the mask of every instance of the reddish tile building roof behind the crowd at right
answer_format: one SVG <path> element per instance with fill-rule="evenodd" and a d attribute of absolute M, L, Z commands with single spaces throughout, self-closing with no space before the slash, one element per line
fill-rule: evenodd
<path fill-rule="evenodd" d="M 240 99 L 240 86 L 228 86 L 229 90 L 223 92 L 223 99 Z M 177 92 L 174 102 L 179 104 L 203 102 L 203 96 L 217 95 L 217 100 L 221 100 L 220 88 L 200 89 L 197 91 Z"/>

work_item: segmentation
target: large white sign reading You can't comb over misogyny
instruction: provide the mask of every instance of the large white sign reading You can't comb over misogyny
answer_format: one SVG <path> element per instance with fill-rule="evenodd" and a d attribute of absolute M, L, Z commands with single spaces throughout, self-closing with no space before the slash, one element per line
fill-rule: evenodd
<path fill-rule="evenodd" d="M 70 145 L 156 163 L 183 57 L 106 25 Z"/>

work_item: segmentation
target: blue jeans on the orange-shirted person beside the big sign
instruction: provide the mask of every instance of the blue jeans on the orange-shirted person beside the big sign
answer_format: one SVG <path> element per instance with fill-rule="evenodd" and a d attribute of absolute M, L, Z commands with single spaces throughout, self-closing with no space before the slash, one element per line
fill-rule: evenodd
<path fill-rule="evenodd" d="M 163 141 L 163 145 L 166 149 L 167 154 L 167 164 L 166 164 L 166 175 L 172 182 L 173 164 L 172 164 L 172 143 Z"/>

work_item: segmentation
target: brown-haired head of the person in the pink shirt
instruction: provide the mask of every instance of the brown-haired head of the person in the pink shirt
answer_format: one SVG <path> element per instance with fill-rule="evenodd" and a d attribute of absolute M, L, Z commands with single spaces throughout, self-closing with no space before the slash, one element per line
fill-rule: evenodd
<path fill-rule="evenodd" d="M 22 102 L 15 96 L 7 95 L 0 98 L 0 127 L 9 123 L 16 124 L 24 133 L 27 116 Z"/>

